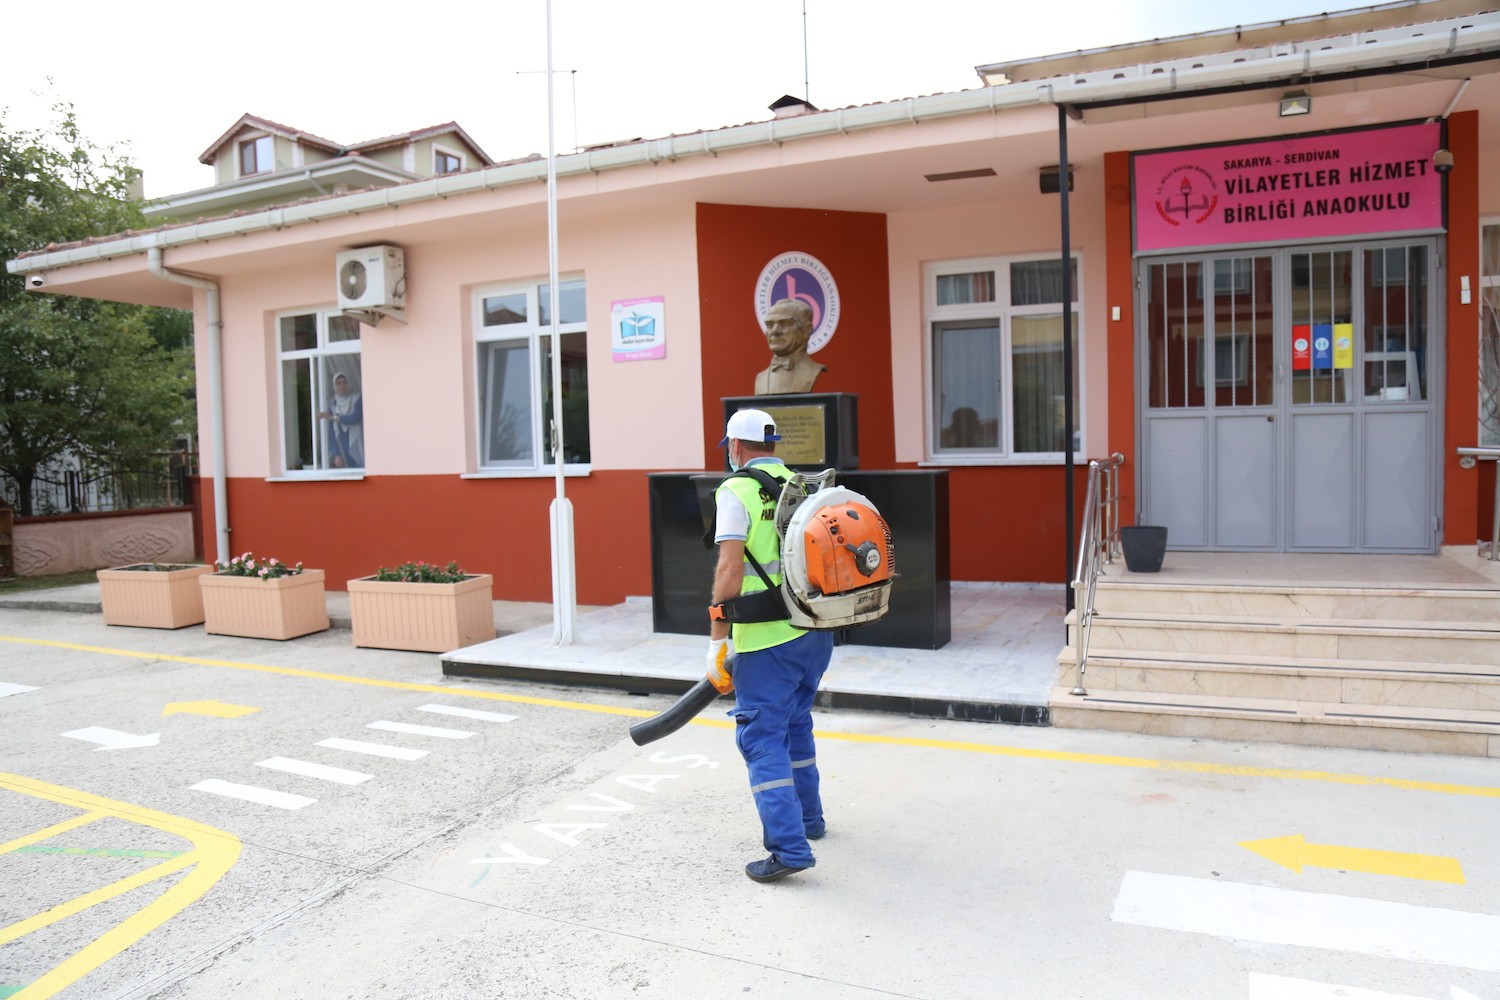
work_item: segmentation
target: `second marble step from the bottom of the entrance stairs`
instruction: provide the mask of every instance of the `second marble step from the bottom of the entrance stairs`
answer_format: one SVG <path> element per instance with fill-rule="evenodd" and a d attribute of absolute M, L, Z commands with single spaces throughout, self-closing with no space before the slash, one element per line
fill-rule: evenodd
<path fill-rule="evenodd" d="M 1058 684 L 1072 688 L 1077 657 L 1058 657 Z M 1140 654 L 1094 648 L 1090 691 L 1152 691 L 1214 697 L 1293 699 L 1329 705 L 1482 709 L 1500 712 L 1500 666 L 1412 664 L 1388 660 L 1266 660 L 1224 654 Z"/>

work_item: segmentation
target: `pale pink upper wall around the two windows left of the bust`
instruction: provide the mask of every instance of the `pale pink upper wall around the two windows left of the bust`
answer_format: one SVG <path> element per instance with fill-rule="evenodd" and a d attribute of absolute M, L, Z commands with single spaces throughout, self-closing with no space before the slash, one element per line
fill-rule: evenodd
<path fill-rule="evenodd" d="M 512 225 L 504 238 L 405 241 L 406 322 L 382 319 L 360 334 L 366 475 L 458 475 L 477 469 L 474 289 L 546 282 L 546 228 Z M 699 397 L 698 270 L 692 205 L 639 217 L 574 210 L 560 220 L 564 279 L 588 282 L 590 438 L 592 468 L 696 468 L 702 427 L 684 412 Z M 220 279 L 228 472 L 282 475 L 278 316 L 327 309 L 327 267 L 282 265 Z M 615 364 L 609 307 L 662 295 L 666 357 Z M 200 337 L 200 357 L 207 346 Z M 200 426 L 208 384 L 200 370 Z"/>

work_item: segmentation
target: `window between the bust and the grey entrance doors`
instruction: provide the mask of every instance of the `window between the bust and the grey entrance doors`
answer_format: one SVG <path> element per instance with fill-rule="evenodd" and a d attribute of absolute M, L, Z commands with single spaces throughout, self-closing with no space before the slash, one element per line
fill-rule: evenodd
<path fill-rule="evenodd" d="M 1060 459 L 1070 445 L 1064 423 L 1062 277 L 1054 256 L 928 265 L 933 457 Z M 1071 378 L 1074 400 L 1080 400 L 1077 259 L 1070 280 Z M 1076 402 L 1074 451 L 1078 424 Z"/>

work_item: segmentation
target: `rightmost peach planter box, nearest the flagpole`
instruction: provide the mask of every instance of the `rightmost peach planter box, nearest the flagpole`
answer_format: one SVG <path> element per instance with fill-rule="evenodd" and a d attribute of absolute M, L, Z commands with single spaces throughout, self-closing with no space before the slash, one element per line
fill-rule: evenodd
<path fill-rule="evenodd" d="M 350 580 L 354 645 L 452 652 L 495 637 L 495 577 L 458 583 Z"/>

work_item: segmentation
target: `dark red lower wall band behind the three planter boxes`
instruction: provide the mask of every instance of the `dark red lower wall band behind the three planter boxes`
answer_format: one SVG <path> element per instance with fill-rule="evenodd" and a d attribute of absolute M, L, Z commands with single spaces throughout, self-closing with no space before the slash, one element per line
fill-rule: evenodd
<path fill-rule="evenodd" d="M 330 591 L 381 565 L 458 559 L 495 577 L 495 600 L 552 600 L 550 478 L 462 480 L 375 475 L 360 481 L 230 480 L 231 555 L 254 552 L 327 573 Z M 580 604 L 651 592 L 645 472 L 567 481 Z M 213 490 L 202 490 L 202 546 L 212 559 Z"/>

